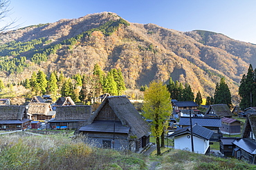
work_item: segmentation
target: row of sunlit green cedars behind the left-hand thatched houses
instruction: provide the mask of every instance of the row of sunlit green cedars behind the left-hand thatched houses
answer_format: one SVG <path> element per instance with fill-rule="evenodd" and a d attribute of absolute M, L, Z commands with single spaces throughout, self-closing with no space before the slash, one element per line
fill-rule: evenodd
<path fill-rule="evenodd" d="M 100 96 L 102 93 L 117 96 L 126 89 L 120 69 L 111 69 L 105 76 L 98 64 L 95 65 L 93 74 L 84 74 L 83 76 L 75 74 L 72 78 L 66 78 L 63 72 L 60 72 L 60 76 L 57 77 L 57 72 L 54 71 L 47 79 L 46 74 L 39 70 L 37 73 L 33 72 L 31 78 L 21 82 L 21 85 L 27 89 L 30 88 L 33 96 L 41 96 L 46 93 L 55 96 L 59 93 L 63 97 L 70 96 L 75 101 L 85 101 Z"/>

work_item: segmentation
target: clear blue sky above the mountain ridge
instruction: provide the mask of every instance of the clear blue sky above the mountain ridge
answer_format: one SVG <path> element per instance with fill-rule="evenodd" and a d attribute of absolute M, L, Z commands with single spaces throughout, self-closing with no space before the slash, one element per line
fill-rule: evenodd
<path fill-rule="evenodd" d="M 10 8 L 10 18 L 19 19 L 21 27 L 107 11 L 132 23 L 183 32 L 208 30 L 256 43 L 255 0 L 10 0 Z"/>

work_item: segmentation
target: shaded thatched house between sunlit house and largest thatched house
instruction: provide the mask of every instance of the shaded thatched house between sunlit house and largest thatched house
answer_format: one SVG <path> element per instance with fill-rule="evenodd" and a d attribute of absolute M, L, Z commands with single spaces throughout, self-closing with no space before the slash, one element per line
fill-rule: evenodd
<path fill-rule="evenodd" d="M 48 121 L 52 129 L 77 129 L 91 116 L 91 106 L 71 105 L 56 107 L 55 118 Z"/>

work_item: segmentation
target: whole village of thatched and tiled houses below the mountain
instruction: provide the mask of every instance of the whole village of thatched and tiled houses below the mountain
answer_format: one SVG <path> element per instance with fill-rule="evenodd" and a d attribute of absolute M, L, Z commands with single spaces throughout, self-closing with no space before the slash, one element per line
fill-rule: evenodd
<path fill-rule="evenodd" d="M 98 147 L 143 153 L 154 146 L 149 141 L 150 120 L 138 113 L 127 96 L 104 96 L 95 111 L 89 105 L 75 105 L 70 97 L 51 103 L 51 96 L 34 96 L 26 106 L 11 105 L 10 99 L 0 102 L 1 131 L 40 130 L 44 123 L 46 129 L 73 129 Z M 203 105 L 206 111 L 202 112 L 193 101 L 177 100 L 172 100 L 172 107 L 166 136 L 173 140 L 172 148 L 210 154 L 212 143 L 218 142 L 219 156 L 256 163 L 256 107 L 230 111 L 226 104 Z"/>

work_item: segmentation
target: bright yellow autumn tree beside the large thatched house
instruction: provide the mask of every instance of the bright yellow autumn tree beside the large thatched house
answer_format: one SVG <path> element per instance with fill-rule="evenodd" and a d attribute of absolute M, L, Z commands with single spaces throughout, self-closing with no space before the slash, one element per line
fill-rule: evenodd
<path fill-rule="evenodd" d="M 160 138 L 167 129 L 167 119 L 172 113 L 170 92 L 168 92 L 166 85 L 159 81 L 153 81 L 149 84 L 149 88 L 144 93 L 143 110 L 145 111 L 145 118 L 152 120 L 151 130 L 156 138 L 157 155 L 160 155 Z M 163 138 L 162 140 L 164 142 Z"/>

